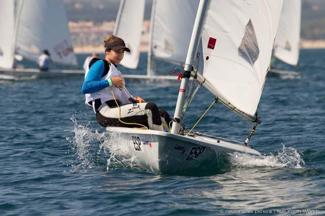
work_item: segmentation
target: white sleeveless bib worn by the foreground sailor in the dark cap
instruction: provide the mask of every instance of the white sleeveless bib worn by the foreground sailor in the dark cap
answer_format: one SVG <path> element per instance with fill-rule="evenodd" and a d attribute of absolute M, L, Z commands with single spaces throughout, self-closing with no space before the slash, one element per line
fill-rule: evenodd
<path fill-rule="evenodd" d="M 102 60 L 99 60 L 99 61 L 102 61 Z M 89 67 L 86 70 L 85 78 L 86 78 L 88 72 L 89 72 Z M 117 68 L 115 67 L 114 64 L 111 63 L 108 73 L 106 74 L 106 76 L 100 78 L 100 81 L 107 80 L 107 79 L 113 78 L 113 77 L 122 77 L 123 83 L 125 85 L 125 80 L 124 80 L 123 74 L 119 70 L 117 70 Z M 112 85 L 112 90 L 113 90 L 115 99 L 119 100 L 122 104 L 132 103 L 128 100 L 130 96 L 124 88 L 120 88 L 118 86 Z M 88 104 L 89 102 L 94 101 L 99 98 L 100 98 L 101 103 L 104 103 L 105 101 L 109 101 L 109 100 L 114 100 L 112 92 L 111 92 L 111 86 L 103 88 L 100 91 L 97 91 L 95 93 L 85 94 L 85 97 L 86 97 L 85 103 L 88 106 L 90 106 Z M 95 104 L 95 103 L 93 103 L 93 104 Z"/>

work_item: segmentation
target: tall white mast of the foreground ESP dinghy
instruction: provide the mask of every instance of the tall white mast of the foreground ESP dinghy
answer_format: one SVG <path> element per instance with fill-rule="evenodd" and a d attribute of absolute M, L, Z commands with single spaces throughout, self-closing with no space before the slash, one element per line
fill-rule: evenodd
<path fill-rule="evenodd" d="M 189 84 L 189 79 L 191 77 L 191 71 L 192 71 L 192 64 L 195 59 L 195 54 L 197 51 L 198 43 L 201 37 L 202 27 L 203 23 L 207 14 L 208 5 L 210 3 L 210 0 L 200 0 L 200 3 L 198 5 L 198 10 L 196 13 L 195 23 L 193 27 L 192 37 L 190 41 L 189 50 L 186 57 L 186 63 L 184 66 L 184 72 L 182 75 L 182 82 L 181 86 L 178 92 L 178 98 L 175 108 L 175 114 L 174 114 L 174 121 L 171 128 L 172 134 L 178 133 L 178 128 L 181 123 L 181 115 L 182 115 L 182 109 L 184 106 L 185 101 L 185 95 L 186 95 L 186 89 Z"/>

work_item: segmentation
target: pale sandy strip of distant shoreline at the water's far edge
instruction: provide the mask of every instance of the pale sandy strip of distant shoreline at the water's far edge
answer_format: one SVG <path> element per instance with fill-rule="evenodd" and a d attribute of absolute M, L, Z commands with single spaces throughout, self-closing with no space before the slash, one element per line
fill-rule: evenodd
<path fill-rule="evenodd" d="M 301 39 L 300 41 L 300 49 L 325 49 L 325 40 L 304 40 Z M 148 43 L 141 43 L 140 45 L 140 52 L 147 52 L 148 51 Z M 74 46 L 74 53 L 76 54 L 90 54 L 92 52 L 96 53 L 103 53 L 104 47 L 100 46 Z"/>

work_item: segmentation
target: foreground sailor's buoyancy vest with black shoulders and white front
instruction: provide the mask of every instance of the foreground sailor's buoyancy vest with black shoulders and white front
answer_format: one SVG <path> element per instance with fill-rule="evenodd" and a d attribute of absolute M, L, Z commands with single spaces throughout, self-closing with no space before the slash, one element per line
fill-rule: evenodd
<path fill-rule="evenodd" d="M 115 65 L 111 64 L 107 60 L 101 59 L 101 58 L 93 58 L 89 62 L 89 66 L 87 68 L 85 78 L 86 78 L 88 71 L 91 68 L 92 64 L 94 64 L 98 60 L 102 60 L 104 62 L 104 71 L 102 72 L 100 81 L 107 80 L 107 79 L 113 78 L 113 77 L 122 77 L 123 81 L 124 81 L 124 77 L 123 77 L 122 73 L 117 70 Z M 124 84 L 125 84 L 125 81 L 124 81 Z M 115 99 L 120 100 L 122 103 L 125 103 L 125 101 L 126 101 L 126 99 L 128 99 L 128 97 L 125 96 L 125 93 L 123 95 L 124 89 L 113 85 L 112 90 L 113 90 Z M 96 99 L 103 99 L 102 101 L 114 100 L 110 86 L 103 88 L 100 91 L 97 91 L 95 93 L 85 94 L 85 97 L 86 97 L 86 101 L 85 101 L 86 105 L 89 105 L 88 104 L 89 102 L 96 100 Z"/>

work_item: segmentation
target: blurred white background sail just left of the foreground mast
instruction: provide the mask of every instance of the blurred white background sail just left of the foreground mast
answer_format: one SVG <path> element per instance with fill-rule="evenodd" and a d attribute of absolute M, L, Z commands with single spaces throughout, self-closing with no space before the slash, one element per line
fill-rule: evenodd
<path fill-rule="evenodd" d="M 152 57 L 185 63 L 199 0 L 157 0 L 152 13 Z"/>

